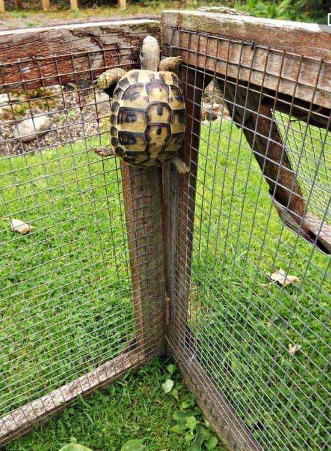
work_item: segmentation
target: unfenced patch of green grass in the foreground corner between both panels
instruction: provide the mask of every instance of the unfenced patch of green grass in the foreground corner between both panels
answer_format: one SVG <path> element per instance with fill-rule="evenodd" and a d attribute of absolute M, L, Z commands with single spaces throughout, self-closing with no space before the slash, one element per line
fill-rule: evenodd
<path fill-rule="evenodd" d="M 47 426 L 8 444 L 6 451 L 58 451 L 73 437 L 94 451 L 120 451 L 130 439 L 143 439 L 148 451 L 188 450 L 190 443 L 169 430 L 173 414 L 178 409 L 183 411 L 185 402 L 191 405 L 197 420 L 203 422 L 203 418 L 178 375 L 172 379 L 179 399 L 163 392 L 166 373 L 166 362 L 153 361 L 90 398 L 77 400 Z M 219 444 L 214 449 L 223 448 Z"/>

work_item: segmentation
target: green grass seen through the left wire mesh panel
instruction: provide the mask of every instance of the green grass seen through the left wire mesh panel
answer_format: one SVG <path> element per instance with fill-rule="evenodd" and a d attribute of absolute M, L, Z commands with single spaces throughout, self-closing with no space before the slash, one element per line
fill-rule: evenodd
<path fill-rule="evenodd" d="M 134 334 L 118 162 L 85 149 L 1 160 L 1 415 L 93 370 Z M 33 233 L 14 234 L 8 217 Z"/>

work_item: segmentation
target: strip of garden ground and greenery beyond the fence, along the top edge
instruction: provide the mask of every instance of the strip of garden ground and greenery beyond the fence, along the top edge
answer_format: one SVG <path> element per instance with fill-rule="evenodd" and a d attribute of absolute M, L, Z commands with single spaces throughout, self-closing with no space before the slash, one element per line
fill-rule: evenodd
<path fill-rule="evenodd" d="M 16 27 L 45 25 L 47 23 L 58 23 L 76 20 L 97 20 L 113 17 L 129 17 L 134 15 L 144 16 L 148 14 L 161 14 L 164 9 L 197 9 L 200 6 L 225 6 L 246 11 L 257 17 L 268 17 L 285 20 L 300 20 L 302 22 L 327 23 L 329 2 L 327 0 L 224 0 L 224 1 L 170 1 L 162 0 L 131 0 L 127 2 L 125 11 L 120 10 L 113 1 L 109 4 L 107 0 L 98 2 L 81 0 L 80 9 L 70 11 L 69 2 L 57 0 L 52 2 L 51 10 L 41 10 L 40 2 L 25 3 L 25 9 L 15 10 L 8 8 L 6 18 L 17 21 Z M 13 26 L 8 23 L 4 26 Z M 23 22 L 22 22 L 23 21 Z"/>

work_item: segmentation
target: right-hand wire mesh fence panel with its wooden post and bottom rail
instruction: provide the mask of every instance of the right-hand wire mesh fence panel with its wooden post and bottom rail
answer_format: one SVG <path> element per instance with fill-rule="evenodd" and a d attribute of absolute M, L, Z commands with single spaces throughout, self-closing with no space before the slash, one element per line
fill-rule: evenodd
<path fill-rule="evenodd" d="M 315 101 L 317 87 L 330 99 L 320 74 L 331 65 L 208 32 L 210 17 L 197 30 L 178 14 L 177 24 L 163 17 L 164 49 L 184 59 L 191 138 L 188 180 L 170 188 L 171 355 L 230 449 L 327 449 L 330 111 Z M 276 89 L 266 89 L 277 58 Z M 305 87 L 310 63 L 316 83 Z M 216 120 L 203 120 L 205 109 Z"/>

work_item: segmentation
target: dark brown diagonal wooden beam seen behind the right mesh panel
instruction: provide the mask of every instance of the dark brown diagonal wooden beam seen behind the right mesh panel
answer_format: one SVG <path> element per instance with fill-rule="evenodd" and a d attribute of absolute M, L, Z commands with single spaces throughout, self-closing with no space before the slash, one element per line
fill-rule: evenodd
<path fill-rule="evenodd" d="M 307 212 L 297 180 L 297 168 L 291 166 L 272 109 L 263 104 L 263 96 L 244 86 L 217 80 L 217 95 L 222 97 L 232 119 L 242 131 L 269 186 L 271 200 L 285 225 L 310 243 L 330 253 L 331 233 L 326 222 Z"/>

